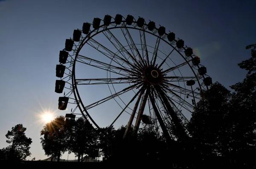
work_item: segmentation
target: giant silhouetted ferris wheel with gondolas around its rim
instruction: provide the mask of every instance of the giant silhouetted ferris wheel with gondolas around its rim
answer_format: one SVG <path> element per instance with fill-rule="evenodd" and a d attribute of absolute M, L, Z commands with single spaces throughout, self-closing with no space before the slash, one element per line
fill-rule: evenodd
<path fill-rule="evenodd" d="M 186 123 L 212 78 L 175 33 L 143 17 L 94 18 L 66 39 L 56 65 L 58 109 L 95 128 L 140 124 L 168 138 L 186 137 Z M 79 110 L 76 110 L 79 108 Z"/>

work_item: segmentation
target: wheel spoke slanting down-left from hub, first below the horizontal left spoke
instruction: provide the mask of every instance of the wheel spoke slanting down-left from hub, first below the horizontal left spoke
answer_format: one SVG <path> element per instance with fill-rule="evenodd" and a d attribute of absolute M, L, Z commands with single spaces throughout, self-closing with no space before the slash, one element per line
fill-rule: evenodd
<path fill-rule="evenodd" d="M 127 87 L 127 88 L 125 88 L 125 89 L 123 89 L 123 90 L 113 94 L 113 95 L 110 95 L 108 97 L 105 97 L 102 100 L 96 101 L 96 102 L 94 102 L 94 103 L 92 103 L 92 104 L 90 104 L 88 106 L 85 106 L 84 108 L 87 109 L 87 110 L 91 109 L 91 108 L 93 108 L 95 106 L 98 106 L 99 104 L 105 103 L 106 101 L 113 99 L 114 97 L 117 97 L 117 96 L 122 95 L 122 94 L 124 94 L 124 93 L 126 93 L 128 91 L 131 91 L 132 89 L 140 88 L 140 86 L 142 86 L 142 85 L 143 85 L 142 83 L 135 83 L 134 85 L 131 85 L 131 86 L 129 86 L 129 87 Z"/>

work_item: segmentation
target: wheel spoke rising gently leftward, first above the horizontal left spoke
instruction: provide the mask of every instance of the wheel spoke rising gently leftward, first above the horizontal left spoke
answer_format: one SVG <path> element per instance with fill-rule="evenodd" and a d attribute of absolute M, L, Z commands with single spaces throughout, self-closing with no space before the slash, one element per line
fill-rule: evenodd
<path fill-rule="evenodd" d="M 101 62 L 101 61 L 98 61 L 98 60 L 94 60 L 94 59 L 91 59 L 89 57 L 85 57 L 85 56 L 82 56 L 82 55 L 78 55 L 77 57 L 79 60 L 77 60 L 78 62 L 80 63 L 84 63 L 84 64 L 87 64 L 87 65 L 90 65 L 90 66 L 94 66 L 94 67 L 97 67 L 99 69 L 104 69 L 104 70 L 108 70 L 110 72 L 113 72 L 113 73 L 116 73 L 116 74 L 120 74 L 120 75 L 125 75 L 125 74 L 121 74 L 120 72 L 126 72 L 128 74 L 133 74 L 134 76 L 136 76 L 136 72 L 134 71 L 131 71 L 130 69 L 125 69 L 123 67 L 119 67 L 119 66 L 113 66 L 113 65 L 110 65 L 110 64 L 107 64 L 107 63 L 104 63 L 104 62 Z M 84 60 L 88 60 L 89 62 L 84 62 Z M 92 63 L 97 63 L 99 65 L 93 65 Z M 116 72 L 115 70 L 119 70 L 119 72 Z"/>

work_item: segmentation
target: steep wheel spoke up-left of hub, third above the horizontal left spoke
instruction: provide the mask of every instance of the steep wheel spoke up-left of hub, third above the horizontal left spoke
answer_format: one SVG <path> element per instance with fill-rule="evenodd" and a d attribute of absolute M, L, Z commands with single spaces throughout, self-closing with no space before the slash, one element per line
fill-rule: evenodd
<path fill-rule="evenodd" d="M 106 34 L 105 32 L 108 32 L 108 34 Z M 121 54 L 122 54 L 122 56 L 126 59 L 127 62 L 129 62 L 129 61 L 128 61 L 128 59 L 125 57 L 124 52 L 129 56 L 128 58 L 131 57 L 131 59 L 133 60 L 134 64 L 138 64 L 138 65 L 141 66 L 141 68 L 143 68 L 142 63 L 139 63 L 139 62 L 133 57 L 133 55 L 125 49 L 125 47 L 119 42 L 119 40 L 112 34 L 112 32 L 111 32 L 110 30 L 106 30 L 105 32 L 103 32 L 103 34 L 105 35 L 105 37 L 107 37 L 108 40 L 113 44 L 113 46 L 115 46 L 115 48 L 117 49 L 118 52 L 120 52 L 120 53 L 122 52 Z M 111 38 L 113 38 L 113 40 L 114 40 L 117 44 L 115 44 L 115 43 L 111 40 Z"/>

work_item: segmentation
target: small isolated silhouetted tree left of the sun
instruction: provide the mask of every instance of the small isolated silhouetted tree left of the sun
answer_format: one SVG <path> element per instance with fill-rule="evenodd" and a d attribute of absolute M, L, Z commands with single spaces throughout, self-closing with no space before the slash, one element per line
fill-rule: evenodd
<path fill-rule="evenodd" d="M 26 137 L 26 128 L 22 124 L 17 124 L 12 127 L 11 131 L 6 134 L 6 143 L 10 146 L 2 149 L 1 154 L 4 156 L 5 160 L 15 161 L 15 160 L 25 160 L 31 155 L 29 149 L 32 143 L 32 139 Z"/>

